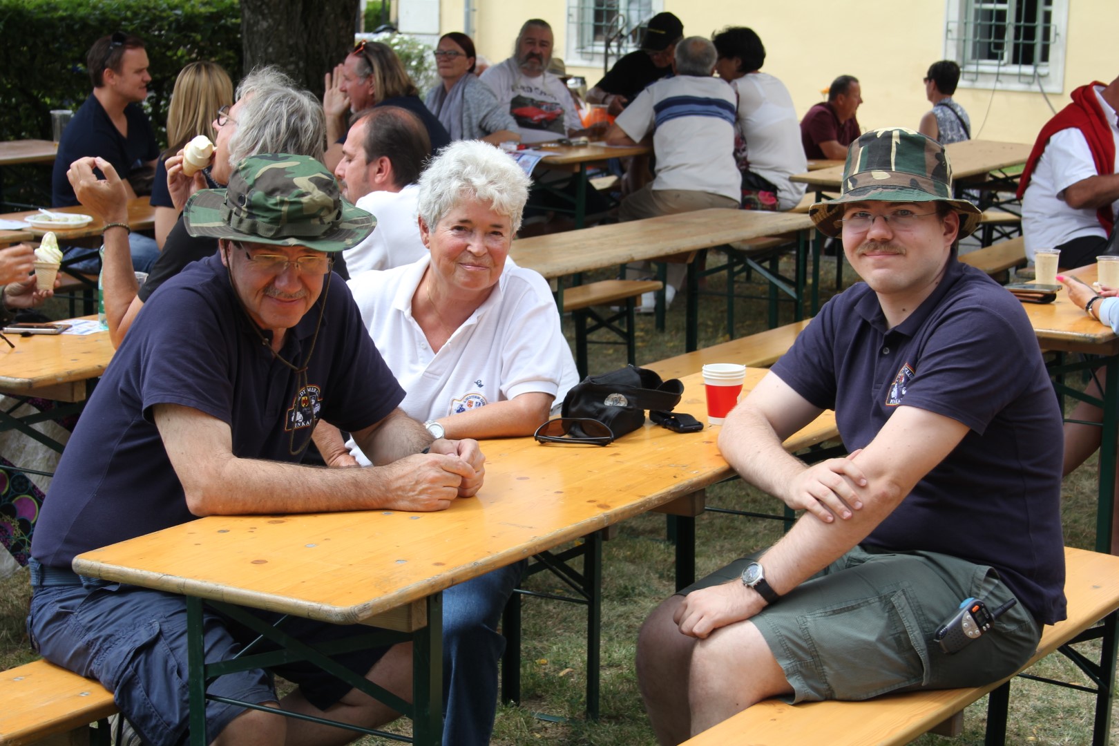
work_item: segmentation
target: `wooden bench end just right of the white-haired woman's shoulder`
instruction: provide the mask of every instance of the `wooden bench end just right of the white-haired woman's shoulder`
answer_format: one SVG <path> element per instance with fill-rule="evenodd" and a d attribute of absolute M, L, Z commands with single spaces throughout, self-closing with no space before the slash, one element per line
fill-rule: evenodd
<path fill-rule="evenodd" d="M 658 280 L 601 280 L 585 285 L 567 287 L 557 294 L 556 303 L 561 313 L 572 312 L 575 322 L 575 367 L 580 377 L 587 375 L 587 344 L 626 344 L 626 359 L 637 363 L 637 324 L 634 303 L 645 293 L 664 287 Z M 615 311 L 600 313 L 596 306 L 621 303 Z M 600 329 L 609 329 L 621 338 L 620 342 L 591 340 L 589 337 Z"/>

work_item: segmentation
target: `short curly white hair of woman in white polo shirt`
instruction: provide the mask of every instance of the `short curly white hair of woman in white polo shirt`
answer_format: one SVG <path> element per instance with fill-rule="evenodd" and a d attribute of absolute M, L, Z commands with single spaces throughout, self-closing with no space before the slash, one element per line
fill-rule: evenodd
<path fill-rule="evenodd" d="M 520 229 L 532 180 L 517 162 L 480 140 L 460 140 L 439 151 L 420 177 L 420 217 L 434 229 L 462 200 L 487 202 Z"/>

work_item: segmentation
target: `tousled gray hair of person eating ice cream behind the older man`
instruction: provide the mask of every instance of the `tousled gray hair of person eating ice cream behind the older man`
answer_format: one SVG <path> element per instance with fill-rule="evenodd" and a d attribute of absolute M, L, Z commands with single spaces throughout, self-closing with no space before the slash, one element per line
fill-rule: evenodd
<path fill-rule="evenodd" d="M 322 104 L 276 67 L 253 70 L 237 86 L 237 131 L 229 138 L 229 164 L 260 153 L 292 153 L 322 160 L 327 120 Z"/>

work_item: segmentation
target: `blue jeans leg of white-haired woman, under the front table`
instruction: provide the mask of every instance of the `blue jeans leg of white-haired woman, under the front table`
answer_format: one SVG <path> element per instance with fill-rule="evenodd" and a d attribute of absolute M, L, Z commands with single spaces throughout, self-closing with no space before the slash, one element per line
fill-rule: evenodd
<path fill-rule="evenodd" d="M 497 715 L 497 631 L 527 560 L 443 592 L 443 746 L 486 746 Z"/>

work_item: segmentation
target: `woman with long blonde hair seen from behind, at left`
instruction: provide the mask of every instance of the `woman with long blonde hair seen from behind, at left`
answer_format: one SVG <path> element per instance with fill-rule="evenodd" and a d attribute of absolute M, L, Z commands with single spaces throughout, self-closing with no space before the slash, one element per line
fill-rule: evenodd
<path fill-rule="evenodd" d="M 199 134 L 213 142 L 217 138 L 214 112 L 232 105 L 233 101 L 233 81 L 217 63 L 190 63 L 175 78 L 171 105 L 167 110 L 168 148 L 156 162 L 156 180 L 151 186 L 151 205 L 156 208 L 156 244 L 160 251 L 182 213 L 182 206 L 176 207 L 168 190 L 166 161 L 172 155 L 181 155 L 179 151 Z M 208 179 L 205 172 L 204 178 Z M 208 180 L 207 187 L 214 189 L 217 185 Z"/>

